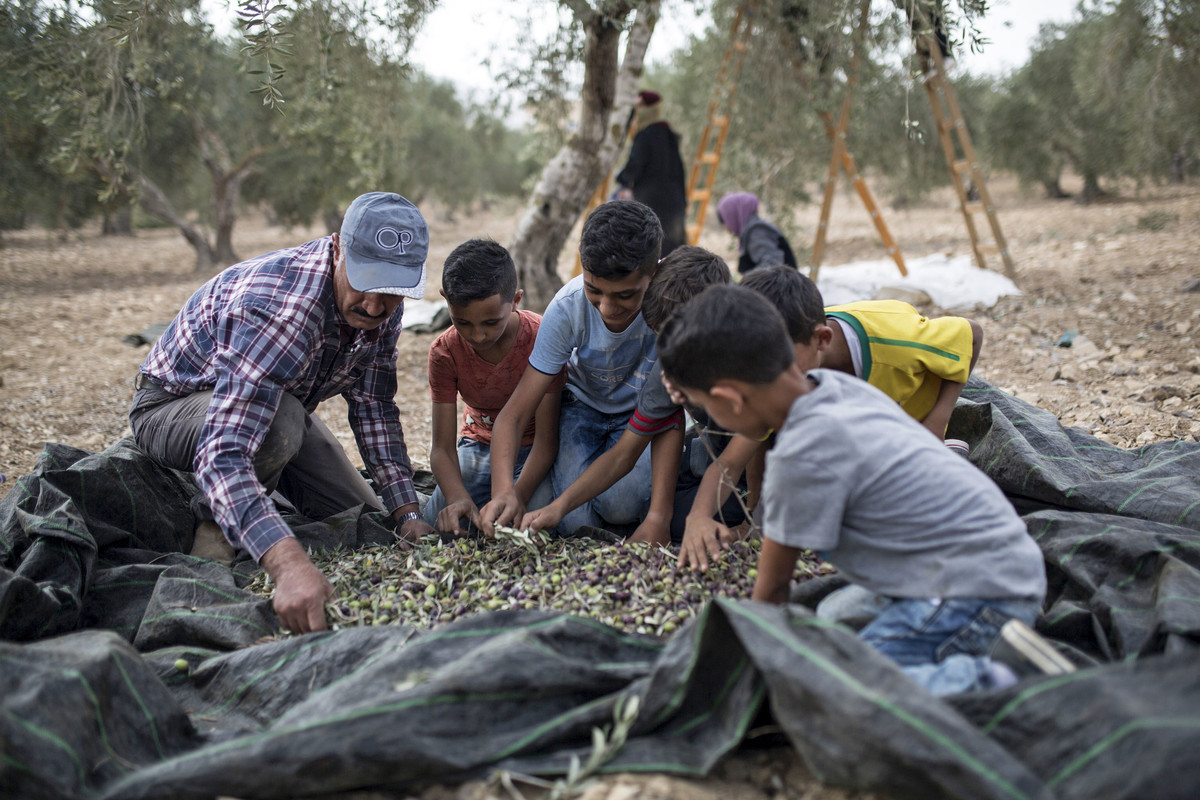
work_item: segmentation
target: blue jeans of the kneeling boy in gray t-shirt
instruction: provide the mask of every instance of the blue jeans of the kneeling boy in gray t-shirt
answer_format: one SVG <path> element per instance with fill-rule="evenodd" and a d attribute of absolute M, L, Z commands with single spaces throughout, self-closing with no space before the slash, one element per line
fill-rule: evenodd
<path fill-rule="evenodd" d="M 1032 626 L 1040 608 L 1037 600 L 896 599 L 858 634 L 931 694 L 958 694 L 995 687 L 988 654 L 1001 626 L 1013 618 Z"/>

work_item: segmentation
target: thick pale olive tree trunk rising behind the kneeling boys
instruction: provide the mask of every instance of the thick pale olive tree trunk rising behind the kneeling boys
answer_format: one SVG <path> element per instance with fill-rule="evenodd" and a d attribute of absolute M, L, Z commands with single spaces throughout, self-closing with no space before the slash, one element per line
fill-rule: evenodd
<path fill-rule="evenodd" d="M 596 11 L 582 0 L 563 1 L 587 34 L 578 131 L 542 169 L 509 246 L 526 293 L 526 306 L 534 311 L 544 311 L 563 285 L 558 255 L 588 198 L 617 157 L 661 2 L 607 2 L 604 11 Z M 634 7 L 637 18 L 620 65 L 618 90 L 620 19 Z"/>

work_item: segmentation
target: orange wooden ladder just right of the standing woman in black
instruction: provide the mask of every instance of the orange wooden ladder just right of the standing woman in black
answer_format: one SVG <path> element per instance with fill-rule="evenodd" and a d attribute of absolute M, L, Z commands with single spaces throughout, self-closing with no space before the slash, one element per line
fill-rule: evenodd
<path fill-rule="evenodd" d="M 721 163 L 725 137 L 730 133 L 730 122 L 733 119 L 733 98 L 738 94 L 738 77 L 742 74 L 742 62 L 745 61 L 754 6 L 752 0 L 738 6 L 730 29 L 730 46 L 725 48 L 721 66 L 713 82 L 708 119 L 704 122 L 704 131 L 700 134 L 696 157 L 688 175 L 689 245 L 696 245 L 700 241 L 700 231 L 704 229 L 704 216 L 708 213 L 713 185 L 716 182 L 716 168 Z"/>

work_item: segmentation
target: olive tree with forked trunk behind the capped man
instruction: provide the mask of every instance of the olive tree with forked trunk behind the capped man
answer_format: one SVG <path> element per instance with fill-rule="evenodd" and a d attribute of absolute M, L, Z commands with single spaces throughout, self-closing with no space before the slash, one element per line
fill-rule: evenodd
<path fill-rule="evenodd" d="M 265 155 L 302 138 L 312 120 L 288 116 L 289 98 L 319 106 L 336 88 L 332 76 L 349 71 L 337 60 L 346 53 L 370 50 L 376 66 L 395 64 L 432 2 L 244 0 L 227 6 L 241 23 L 234 41 L 214 35 L 198 0 L 24 5 L 38 30 L 23 68 L 40 90 L 32 110 L 61 132 L 60 163 L 68 172 L 96 170 L 108 196 L 136 197 L 143 210 L 179 229 L 196 251 L 196 269 L 209 271 L 238 260 L 232 234 L 242 184 Z M 324 41 L 366 44 L 314 48 L 313 31 Z M 332 58 L 310 68 L 311 79 L 287 83 L 294 53 Z M 377 98 L 362 108 L 386 113 Z M 330 125 L 358 119 L 341 110 Z M 188 181 L 181 180 L 196 175 L 206 186 L 203 201 L 187 197 Z M 353 186 L 356 175 L 344 182 Z M 188 213 L 192 207 L 202 209 L 211 235 Z"/>

